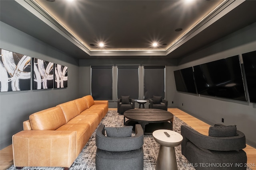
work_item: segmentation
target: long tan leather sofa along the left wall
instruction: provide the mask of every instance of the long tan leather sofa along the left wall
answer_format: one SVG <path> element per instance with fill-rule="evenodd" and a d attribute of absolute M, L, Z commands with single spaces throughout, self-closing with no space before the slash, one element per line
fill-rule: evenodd
<path fill-rule="evenodd" d="M 14 166 L 70 168 L 107 112 L 88 95 L 33 113 L 12 136 Z"/>

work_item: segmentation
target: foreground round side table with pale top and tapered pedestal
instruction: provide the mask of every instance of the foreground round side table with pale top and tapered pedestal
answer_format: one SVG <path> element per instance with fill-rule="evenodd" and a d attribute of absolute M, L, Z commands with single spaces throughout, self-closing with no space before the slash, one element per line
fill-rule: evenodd
<path fill-rule="evenodd" d="M 166 136 L 164 132 L 167 132 L 170 137 Z M 156 130 L 152 135 L 160 144 L 156 170 L 178 170 L 174 147 L 180 145 L 183 140 L 182 135 L 167 129 Z"/>

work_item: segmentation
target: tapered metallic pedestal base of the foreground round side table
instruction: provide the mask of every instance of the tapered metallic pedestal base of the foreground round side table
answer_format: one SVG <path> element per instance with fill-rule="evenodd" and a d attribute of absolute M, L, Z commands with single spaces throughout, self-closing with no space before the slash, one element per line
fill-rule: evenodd
<path fill-rule="evenodd" d="M 156 170 L 178 170 L 174 147 L 160 145 Z"/>

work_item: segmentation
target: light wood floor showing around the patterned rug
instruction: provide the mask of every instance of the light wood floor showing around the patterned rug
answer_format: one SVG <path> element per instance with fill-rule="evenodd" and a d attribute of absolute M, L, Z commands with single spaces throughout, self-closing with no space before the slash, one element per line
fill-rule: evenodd
<path fill-rule="evenodd" d="M 110 108 L 109 110 L 117 110 Z M 181 111 L 177 108 L 168 108 L 168 111 L 173 113 L 176 117 L 190 125 L 196 131 L 208 135 L 208 129 L 210 125 L 204 123 L 195 117 Z M 247 154 L 247 164 L 250 165 L 252 170 L 256 170 L 256 149 L 246 145 L 244 151 Z M 0 150 L 0 170 L 6 170 L 13 164 L 13 157 L 12 157 L 12 145 Z"/>

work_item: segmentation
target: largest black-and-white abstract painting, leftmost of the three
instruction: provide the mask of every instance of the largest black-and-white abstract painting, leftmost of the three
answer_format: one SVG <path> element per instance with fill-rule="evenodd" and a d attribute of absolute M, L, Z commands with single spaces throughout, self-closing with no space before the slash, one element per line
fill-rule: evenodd
<path fill-rule="evenodd" d="M 30 90 L 31 57 L 0 49 L 0 92 Z"/>

